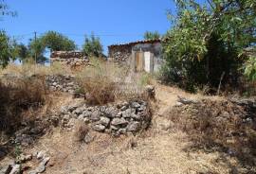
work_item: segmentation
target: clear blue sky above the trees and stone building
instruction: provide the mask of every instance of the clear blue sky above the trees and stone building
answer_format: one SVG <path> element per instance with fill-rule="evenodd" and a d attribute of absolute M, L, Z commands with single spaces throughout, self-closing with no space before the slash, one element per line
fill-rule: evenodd
<path fill-rule="evenodd" d="M 146 30 L 165 33 L 172 0 L 6 0 L 18 16 L 0 22 L 10 36 L 27 43 L 32 32 L 55 30 L 81 46 L 84 34 L 100 35 L 107 45 L 143 39 Z"/>

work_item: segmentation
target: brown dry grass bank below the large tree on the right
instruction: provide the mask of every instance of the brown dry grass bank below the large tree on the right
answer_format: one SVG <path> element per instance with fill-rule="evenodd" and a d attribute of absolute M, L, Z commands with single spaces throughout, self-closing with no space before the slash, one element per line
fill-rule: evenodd
<path fill-rule="evenodd" d="M 175 108 L 169 115 L 178 128 L 189 133 L 193 148 L 225 151 L 252 166 L 256 165 L 256 127 L 255 120 L 247 121 L 246 112 L 227 100 L 206 99 Z"/>

